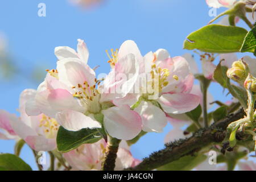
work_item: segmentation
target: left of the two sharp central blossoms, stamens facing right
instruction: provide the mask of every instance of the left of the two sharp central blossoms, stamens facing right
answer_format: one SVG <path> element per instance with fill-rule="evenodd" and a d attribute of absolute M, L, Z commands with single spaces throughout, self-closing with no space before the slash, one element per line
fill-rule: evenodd
<path fill-rule="evenodd" d="M 104 108 L 105 100 L 98 90 L 101 81 L 86 64 L 88 49 L 80 39 L 77 50 L 76 53 L 69 47 L 55 49 L 59 59 L 57 69 L 48 71 L 45 81 L 38 87 L 35 100 L 27 103 L 27 113 L 54 117 L 70 131 L 101 128 L 104 124 L 112 137 L 133 139 L 141 131 L 141 117 L 126 105 Z M 126 56 L 123 61 L 132 66 L 133 57 Z M 104 123 L 97 121 L 94 114 L 104 114 Z"/>

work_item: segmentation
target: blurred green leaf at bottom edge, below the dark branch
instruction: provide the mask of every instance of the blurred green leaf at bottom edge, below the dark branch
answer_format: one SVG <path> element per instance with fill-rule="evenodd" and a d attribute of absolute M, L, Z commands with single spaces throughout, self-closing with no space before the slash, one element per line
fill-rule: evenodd
<path fill-rule="evenodd" d="M 158 171 L 189 171 L 204 162 L 205 159 L 207 159 L 207 156 L 203 154 L 197 156 L 186 155 L 179 160 L 159 167 Z"/>

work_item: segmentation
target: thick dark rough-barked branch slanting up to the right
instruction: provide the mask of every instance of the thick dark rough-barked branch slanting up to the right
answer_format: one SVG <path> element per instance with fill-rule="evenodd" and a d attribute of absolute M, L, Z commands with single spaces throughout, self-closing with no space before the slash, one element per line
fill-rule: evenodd
<path fill-rule="evenodd" d="M 166 144 L 163 150 L 154 152 L 148 158 L 133 168 L 126 170 L 152 170 L 164 164 L 173 162 L 185 155 L 192 154 L 203 147 L 207 147 L 211 143 L 220 143 L 226 136 L 226 128 L 228 125 L 245 116 L 243 109 L 236 111 L 234 114 L 229 114 L 225 119 L 213 123 L 208 129 L 200 129 L 192 137 L 187 139 L 177 140 Z"/>

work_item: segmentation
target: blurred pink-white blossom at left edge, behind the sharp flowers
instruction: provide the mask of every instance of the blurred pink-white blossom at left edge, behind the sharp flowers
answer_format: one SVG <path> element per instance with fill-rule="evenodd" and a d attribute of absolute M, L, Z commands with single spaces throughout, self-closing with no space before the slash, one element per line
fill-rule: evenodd
<path fill-rule="evenodd" d="M 6 129 L 10 135 L 18 135 L 36 151 L 51 151 L 56 148 L 56 134 L 59 125 L 55 119 L 44 114 L 36 116 L 26 114 L 26 102 L 33 99 L 35 94 L 36 90 L 34 89 L 26 89 L 20 94 L 19 118 L 1 110 L 1 127 Z"/>

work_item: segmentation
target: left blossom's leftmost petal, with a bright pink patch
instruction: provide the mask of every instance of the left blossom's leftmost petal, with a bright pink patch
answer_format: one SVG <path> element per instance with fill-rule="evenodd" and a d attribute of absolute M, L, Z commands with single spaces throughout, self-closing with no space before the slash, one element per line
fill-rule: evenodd
<path fill-rule="evenodd" d="M 36 94 L 35 100 L 40 111 L 51 118 L 62 110 L 84 110 L 73 95 L 64 89 L 44 90 Z"/>

